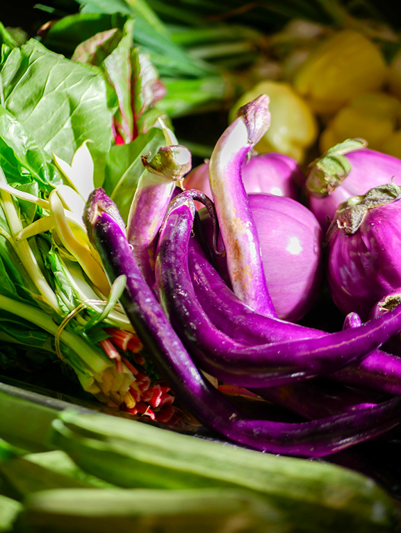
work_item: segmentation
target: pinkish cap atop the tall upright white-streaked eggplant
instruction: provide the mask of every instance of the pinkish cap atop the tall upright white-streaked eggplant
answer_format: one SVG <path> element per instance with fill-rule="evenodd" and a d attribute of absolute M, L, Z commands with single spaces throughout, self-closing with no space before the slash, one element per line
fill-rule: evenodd
<path fill-rule="evenodd" d="M 247 128 L 248 142 L 253 146 L 261 140 L 270 126 L 269 103 L 268 95 L 261 94 L 236 112 L 236 119 L 243 117 Z"/>

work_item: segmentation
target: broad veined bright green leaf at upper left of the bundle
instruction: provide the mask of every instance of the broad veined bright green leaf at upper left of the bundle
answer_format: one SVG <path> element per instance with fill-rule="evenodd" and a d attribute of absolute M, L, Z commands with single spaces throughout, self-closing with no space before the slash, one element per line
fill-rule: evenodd
<path fill-rule="evenodd" d="M 29 40 L 1 69 L 3 102 L 38 145 L 70 162 L 91 139 L 93 153 L 111 146 L 112 112 L 99 69 L 74 63 Z"/>

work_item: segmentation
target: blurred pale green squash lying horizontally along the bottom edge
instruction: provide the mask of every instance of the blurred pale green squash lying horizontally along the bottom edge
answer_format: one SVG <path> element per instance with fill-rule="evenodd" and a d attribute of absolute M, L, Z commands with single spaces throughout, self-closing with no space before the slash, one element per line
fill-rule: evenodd
<path fill-rule="evenodd" d="M 252 493 L 211 488 L 42 491 L 26 500 L 15 532 L 28 528 L 31 533 L 184 533 L 189 525 L 194 533 L 220 533 L 232 527 L 249 533 L 290 531 L 281 514 Z"/>

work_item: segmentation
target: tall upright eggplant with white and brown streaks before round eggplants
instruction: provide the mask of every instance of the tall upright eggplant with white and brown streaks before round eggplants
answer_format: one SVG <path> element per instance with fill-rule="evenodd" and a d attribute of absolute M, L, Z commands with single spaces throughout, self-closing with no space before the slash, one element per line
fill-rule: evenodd
<path fill-rule="evenodd" d="M 270 124 L 268 96 L 245 104 L 215 144 L 209 161 L 209 182 L 227 271 L 235 294 L 254 310 L 277 316 L 266 285 L 259 235 L 241 180 L 241 167 Z"/>

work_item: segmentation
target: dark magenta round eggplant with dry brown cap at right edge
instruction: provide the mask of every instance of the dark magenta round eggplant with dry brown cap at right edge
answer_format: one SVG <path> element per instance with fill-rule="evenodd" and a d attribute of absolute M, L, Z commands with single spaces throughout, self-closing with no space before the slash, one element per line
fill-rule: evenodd
<path fill-rule="evenodd" d="M 400 197 L 392 184 L 353 196 L 327 231 L 327 280 L 343 314 L 364 320 L 379 298 L 401 287 Z"/>

